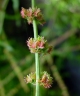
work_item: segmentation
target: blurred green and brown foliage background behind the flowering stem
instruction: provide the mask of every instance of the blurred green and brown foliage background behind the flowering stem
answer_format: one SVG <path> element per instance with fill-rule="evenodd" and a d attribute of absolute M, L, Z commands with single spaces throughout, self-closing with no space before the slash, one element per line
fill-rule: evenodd
<path fill-rule="evenodd" d="M 53 46 L 51 54 L 40 57 L 41 71 L 53 77 L 50 89 L 41 96 L 80 96 L 80 0 L 36 0 L 45 25 L 39 34 Z M 33 27 L 21 18 L 21 7 L 31 0 L 0 0 L 0 96 L 35 96 L 35 86 L 24 76 L 35 71 L 34 54 L 26 40 Z"/>

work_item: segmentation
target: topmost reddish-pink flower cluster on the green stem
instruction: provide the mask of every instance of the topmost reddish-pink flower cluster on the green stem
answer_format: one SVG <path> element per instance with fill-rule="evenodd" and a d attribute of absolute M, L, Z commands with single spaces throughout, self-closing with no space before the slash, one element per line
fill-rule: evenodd
<path fill-rule="evenodd" d="M 45 23 L 40 8 L 25 9 L 22 7 L 21 16 L 22 18 L 27 19 L 28 24 L 31 24 L 33 19 L 36 19 L 41 25 Z"/>

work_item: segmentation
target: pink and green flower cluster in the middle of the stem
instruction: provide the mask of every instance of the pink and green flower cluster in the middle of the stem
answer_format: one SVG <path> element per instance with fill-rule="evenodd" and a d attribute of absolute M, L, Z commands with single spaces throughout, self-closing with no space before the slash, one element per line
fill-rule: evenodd
<path fill-rule="evenodd" d="M 40 53 L 46 47 L 47 40 L 44 37 L 38 36 L 37 39 L 29 38 L 27 41 L 27 46 L 31 53 Z"/>

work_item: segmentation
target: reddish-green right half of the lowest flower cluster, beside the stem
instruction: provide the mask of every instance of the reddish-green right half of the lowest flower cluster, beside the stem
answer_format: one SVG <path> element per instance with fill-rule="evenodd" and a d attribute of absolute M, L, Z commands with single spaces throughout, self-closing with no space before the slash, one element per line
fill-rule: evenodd
<path fill-rule="evenodd" d="M 45 88 L 50 88 L 52 85 L 52 77 L 46 71 L 43 72 L 40 85 L 43 85 Z"/>

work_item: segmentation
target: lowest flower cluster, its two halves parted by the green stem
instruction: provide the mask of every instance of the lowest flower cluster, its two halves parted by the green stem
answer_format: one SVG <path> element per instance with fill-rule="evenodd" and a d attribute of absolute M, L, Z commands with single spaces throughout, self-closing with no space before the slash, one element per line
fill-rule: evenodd
<path fill-rule="evenodd" d="M 46 71 L 44 71 L 40 77 L 41 77 L 40 80 L 38 80 L 39 84 L 44 86 L 45 88 L 50 88 L 52 85 L 52 77 Z M 36 74 L 30 73 L 29 75 L 24 77 L 24 81 L 27 84 L 32 83 L 35 85 L 36 84 Z"/>

